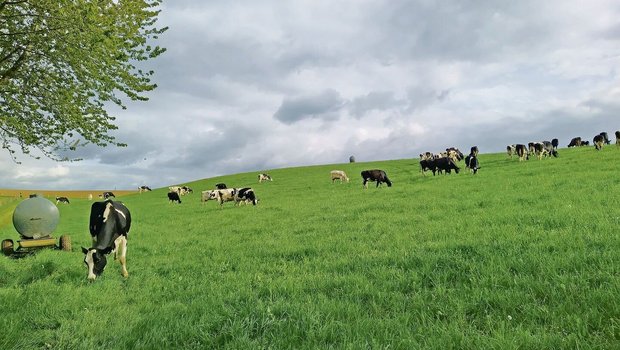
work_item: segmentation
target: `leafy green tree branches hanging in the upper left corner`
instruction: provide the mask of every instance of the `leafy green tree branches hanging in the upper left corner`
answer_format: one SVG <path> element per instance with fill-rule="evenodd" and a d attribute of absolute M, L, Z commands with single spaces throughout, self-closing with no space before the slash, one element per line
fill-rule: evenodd
<path fill-rule="evenodd" d="M 0 143 L 57 161 L 78 144 L 125 146 L 106 104 L 145 101 L 162 0 L 0 0 Z"/>

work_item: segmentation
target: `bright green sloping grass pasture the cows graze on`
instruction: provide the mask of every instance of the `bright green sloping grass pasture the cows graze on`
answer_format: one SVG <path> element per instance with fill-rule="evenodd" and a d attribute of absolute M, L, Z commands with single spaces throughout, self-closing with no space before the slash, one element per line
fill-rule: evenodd
<path fill-rule="evenodd" d="M 129 278 L 110 258 L 94 283 L 90 202 L 72 200 L 55 232 L 72 252 L 0 257 L 0 348 L 620 348 L 620 149 L 479 159 L 475 176 L 405 159 L 200 180 L 180 205 L 128 195 Z M 394 185 L 362 189 L 371 168 Z M 259 205 L 201 204 L 217 182 Z"/>

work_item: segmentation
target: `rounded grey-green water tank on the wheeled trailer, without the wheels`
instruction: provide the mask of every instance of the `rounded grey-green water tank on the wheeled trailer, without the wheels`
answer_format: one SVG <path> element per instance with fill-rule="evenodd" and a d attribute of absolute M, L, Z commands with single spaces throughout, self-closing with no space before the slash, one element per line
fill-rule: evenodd
<path fill-rule="evenodd" d="M 52 234 L 60 221 L 54 203 L 34 196 L 17 205 L 13 211 L 13 226 L 24 238 L 41 238 Z"/>

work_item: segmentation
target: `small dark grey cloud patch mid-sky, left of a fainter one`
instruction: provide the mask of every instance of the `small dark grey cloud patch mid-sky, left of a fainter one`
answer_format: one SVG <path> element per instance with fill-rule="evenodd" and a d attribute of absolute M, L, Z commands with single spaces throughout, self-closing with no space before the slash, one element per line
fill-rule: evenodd
<path fill-rule="evenodd" d="M 293 124 L 304 119 L 336 120 L 337 112 L 344 100 L 335 90 L 325 90 L 316 95 L 287 98 L 273 117 L 284 124 Z"/>

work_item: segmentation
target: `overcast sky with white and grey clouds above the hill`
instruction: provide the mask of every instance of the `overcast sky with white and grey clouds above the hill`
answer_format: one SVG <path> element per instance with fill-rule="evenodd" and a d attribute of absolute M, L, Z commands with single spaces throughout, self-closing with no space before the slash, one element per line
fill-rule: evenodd
<path fill-rule="evenodd" d="M 136 189 L 620 130 L 617 0 L 166 0 L 127 147 L 0 153 L 0 188 Z M 560 150 L 561 156 L 561 150 Z"/>

